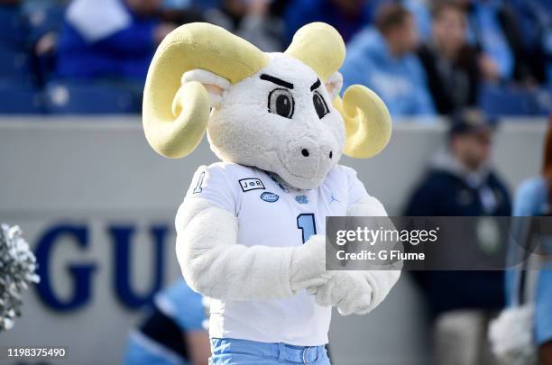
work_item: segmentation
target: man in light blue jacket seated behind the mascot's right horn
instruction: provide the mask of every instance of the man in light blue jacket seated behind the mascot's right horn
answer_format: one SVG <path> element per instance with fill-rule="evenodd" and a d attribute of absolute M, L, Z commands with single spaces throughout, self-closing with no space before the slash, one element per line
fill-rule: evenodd
<path fill-rule="evenodd" d="M 370 87 L 393 116 L 435 114 L 425 71 L 414 54 L 418 41 L 412 14 L 402 5 L 382 5 L 375 28 L 360 32 L 348 45 L 343 90 L 353 84 Z"/>

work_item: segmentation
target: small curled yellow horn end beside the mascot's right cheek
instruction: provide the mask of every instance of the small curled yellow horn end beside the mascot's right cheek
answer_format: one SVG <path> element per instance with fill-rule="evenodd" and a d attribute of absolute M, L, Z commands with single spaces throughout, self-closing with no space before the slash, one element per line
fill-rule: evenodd
<path fill-rule="evenodd" d="M 382 99 L 368 87 L 347 87 L 334 107 L 345 122 L 345 155 L 368 159 L 382 151 L 391 138 L 391 116 Z"/>

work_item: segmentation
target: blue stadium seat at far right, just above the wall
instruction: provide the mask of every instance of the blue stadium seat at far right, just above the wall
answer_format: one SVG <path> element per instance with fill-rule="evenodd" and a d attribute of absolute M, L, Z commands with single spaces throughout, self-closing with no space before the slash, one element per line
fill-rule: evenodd
<path fill-rule="evenodd" d="M 543 89 L 527 90 L 517 87 L 484 86 L 479 105 L 492 116 L 547 115 L 550 112 L 550 93 Z"/>

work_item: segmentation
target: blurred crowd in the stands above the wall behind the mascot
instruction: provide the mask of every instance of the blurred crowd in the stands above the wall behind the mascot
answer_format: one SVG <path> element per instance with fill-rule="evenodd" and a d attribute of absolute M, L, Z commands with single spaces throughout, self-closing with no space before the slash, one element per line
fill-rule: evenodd
<path fill-rule="evenodd" d="M 344 90 L 371 87 L 393 116 L 549 113 L 547 0 L 0 0 L 0 114 L 139 113 L 152 55 L 180 24 L 280 51 L 316 21 L 347 42 Z"/>

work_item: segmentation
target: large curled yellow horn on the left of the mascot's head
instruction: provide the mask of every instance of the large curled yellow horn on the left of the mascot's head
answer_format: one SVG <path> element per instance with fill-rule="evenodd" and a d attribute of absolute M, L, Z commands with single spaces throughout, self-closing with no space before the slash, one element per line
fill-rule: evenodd
<path fill-rule="evenodd" d="M 181 87 L 184 72 L 207 69 L 234 84 L 267 64 L 261 50 L 216 25 L 189 23 L 170 32 L 155 52 L 143 91 L 143 130 L 153 150 L 184 157 L 207 129 L 207 90 L 197 82 Z"/>

